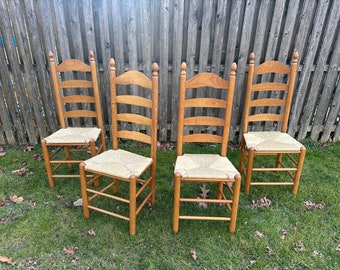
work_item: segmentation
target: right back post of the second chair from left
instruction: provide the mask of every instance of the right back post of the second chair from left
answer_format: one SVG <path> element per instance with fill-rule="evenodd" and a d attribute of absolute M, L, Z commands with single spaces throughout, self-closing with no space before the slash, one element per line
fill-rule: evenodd
<path fill-rule="evenodd" d="M 156 63 L 152 65 L 152 127 L 151 127 L 151 158 L 156 164 L 157 152 L 157 130 L 158 130 L 158 70 L 159 67 Z M 153 166 L 156 168 L 156 166 Z"/>

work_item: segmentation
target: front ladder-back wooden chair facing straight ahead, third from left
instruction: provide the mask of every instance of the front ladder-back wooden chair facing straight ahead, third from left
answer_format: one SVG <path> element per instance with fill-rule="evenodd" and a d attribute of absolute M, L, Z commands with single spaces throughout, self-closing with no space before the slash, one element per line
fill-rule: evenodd
<path fill-rule="evenodd" d="M 235 76 L 236 64 L 234 63 L 229 81 L 208 72 L 199 73 L 187 80 L 186 64 L 181 65 L 177 159 L 174 170 L 174 233 L 178 232 L 179 220 L 182 219 L 229 221 L 229 232 L 235 232 L 241 176 L 227 158 Z M 210 87 L 210 94 L 202 94 L 201 91 L 205 91 L 206 87 Z M 197 98 L 188 97 L 187 92 L 193 89 L 197 91 Z M 216 98 L 220 95 L 225 98 Z M 193 109 L 195 112 L 190 113 Z M 219 144 L 221 151 L 220 154 L 190 154 L 184 148 L 186 153 L 183 154 L 185 143 Z M 217 184 L 217 196 L 216 198 L 197 197 L 195 196 L 197 193 L 191 194 L 190 198 L 188 195 L 184 196 L 181 194 L 183 189 L 181 185 L 185 182 Z M 229 197 L 226 196 L 226 191 Z M 223 205 L 227 208 L 228 215 L 180 215 L 182 203 Z"/>

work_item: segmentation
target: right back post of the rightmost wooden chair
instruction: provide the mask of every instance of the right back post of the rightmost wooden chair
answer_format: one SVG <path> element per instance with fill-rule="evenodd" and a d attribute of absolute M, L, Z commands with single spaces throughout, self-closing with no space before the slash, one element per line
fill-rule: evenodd
<path fill-rule="evenodd" d="M 282 129 L 281 129 L 282 132 L 287 132 L 287 129 L 288 129 L 288 120 L 289 120 L 290 108 L 292 105 L 292 99 L 293 99 L 298 57 L 299 57 L 299 54 L 297 51 L 295 51 L 293 54 L 293 59 L 292 59 L 291 67 L 290 67 L 290 73 L 289 73 L 288 93 L 287 93 L 286 106 L 284 109 L 284 116 L 283 116 Z"/>

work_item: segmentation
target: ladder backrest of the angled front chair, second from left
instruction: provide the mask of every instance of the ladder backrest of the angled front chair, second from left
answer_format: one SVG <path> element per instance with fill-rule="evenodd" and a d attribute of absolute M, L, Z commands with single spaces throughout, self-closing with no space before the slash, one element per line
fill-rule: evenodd
<path fill-rule="evenodd" d="M 119 139 L 150 144 L 156 158 L 158 121 L 158 65 L 152 66 L 152 79 L 137 70 L 117 76 L 115 61 L 110 60 L 112 147 Z"/>

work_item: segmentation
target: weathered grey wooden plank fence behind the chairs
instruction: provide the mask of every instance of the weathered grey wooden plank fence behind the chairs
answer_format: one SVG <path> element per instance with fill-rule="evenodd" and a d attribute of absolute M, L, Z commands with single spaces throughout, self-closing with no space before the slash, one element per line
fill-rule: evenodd
<path fill-rule="evenodd" d="M 160 65 L 160 140 L 176 140 L 180 64 L 228 78 L 236 62 L 231 138 L 242 121 L 249 54 L 287 64 L 299 52 L 289 133 L 340 140 L 339 0 L 1 0 L 0 144 L 35 144 L 58 127 L 48 52 L 96 52 L 109 126 L 109 58 L 118 74 Z"/>

